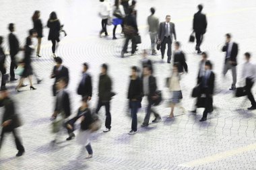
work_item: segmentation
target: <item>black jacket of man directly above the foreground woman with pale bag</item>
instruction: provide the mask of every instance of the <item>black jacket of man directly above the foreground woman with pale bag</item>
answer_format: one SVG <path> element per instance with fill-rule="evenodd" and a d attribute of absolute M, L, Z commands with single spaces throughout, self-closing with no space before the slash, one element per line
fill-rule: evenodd
<path fill-rule="evenodd" d="M 84 78 L 84 75 L 83 75 Z M 84 79 L 82 79 L 84 81 Z M 87 73 L 85 83 L 80 81 L 78 88 L 77 88 L 77 94 L 79 95 L 88 95 L 92 97 L 92 77 Z"/>

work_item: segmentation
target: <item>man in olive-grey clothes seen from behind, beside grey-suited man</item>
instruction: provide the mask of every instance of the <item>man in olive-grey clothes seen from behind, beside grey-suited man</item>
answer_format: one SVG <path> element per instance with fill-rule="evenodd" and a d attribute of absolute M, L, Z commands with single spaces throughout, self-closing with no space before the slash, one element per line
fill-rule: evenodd
<path fill-rule="evenodd" d="M 156 41 L 158 40 L 159 19 L 154 14 L 156 9 L 150 8 L 151 15 L 148 16 L 148 28 L 150 32 L 152 55 L 156 55 Z"/>

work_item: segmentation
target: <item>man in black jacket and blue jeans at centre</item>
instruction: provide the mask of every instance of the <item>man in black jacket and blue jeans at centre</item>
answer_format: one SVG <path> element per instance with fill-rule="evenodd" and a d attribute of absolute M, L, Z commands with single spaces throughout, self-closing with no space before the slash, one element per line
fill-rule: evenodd
<path fill-rule="evenodd" d="M 137 67 L 131 67 L 131 79 L 128 89 L 128 99 L 129 105 L 131 108 L 131 131 L 128 134 L 135 134 L 137 132 L 137 111 L 141 108 L 141 97 L 142 92 L 142 83 L 141 79 L 137 76 Z"/>

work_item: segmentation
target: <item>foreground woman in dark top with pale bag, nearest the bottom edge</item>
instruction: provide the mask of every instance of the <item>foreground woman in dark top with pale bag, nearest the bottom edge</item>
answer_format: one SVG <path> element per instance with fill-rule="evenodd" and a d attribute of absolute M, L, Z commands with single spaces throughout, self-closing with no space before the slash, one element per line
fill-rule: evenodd
<path fill-rule="evenodd" d="M 83 116 L 81 117 L 82 121 L 81 121 L 79 133 L 77 135 L 77 143 L 86 146 L 86 150 L 88 151 L 88 156 L 86 157 L 86 159 L 89 159 L 89 158 L 92 158 L 92 154 L 93 154 L 92 146 L 90 143 L 90 136 L 92 134 L 90 130 L 90 125 L 94 121 L 92 118 L 91 111 L 88 108 L 87 101 L 88 101 L 88 96 L 83 97 L 81 108 L 84 108 L 86 112 L 84 112 Z"/>

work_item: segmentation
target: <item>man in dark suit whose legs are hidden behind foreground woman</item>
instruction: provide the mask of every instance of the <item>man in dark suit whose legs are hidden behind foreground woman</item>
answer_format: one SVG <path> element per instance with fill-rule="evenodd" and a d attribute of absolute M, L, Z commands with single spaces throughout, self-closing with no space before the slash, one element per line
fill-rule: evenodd
<path fill-rule="evenodd" d="M 83 77 L 78 85 L 77 94 L 82 95 L 82 98 L 87 95 L 90 100 L 92 99 L 92 77 L 87 73 L 88 67 L 88 64 L 84 62 Z"/>

